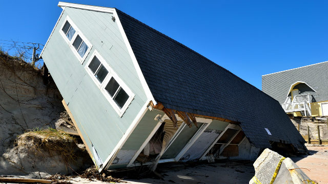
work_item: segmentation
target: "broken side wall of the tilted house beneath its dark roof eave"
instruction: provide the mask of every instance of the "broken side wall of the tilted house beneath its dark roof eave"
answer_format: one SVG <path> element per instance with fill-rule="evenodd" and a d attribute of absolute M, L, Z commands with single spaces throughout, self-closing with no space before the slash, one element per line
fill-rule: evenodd
<path fill-rule="evenodd" d="M 155 120 L 155 123 L 153 122 Z M 149 129 L 154 127 L 153 129 Z M 148 127 L 148 129 L 146 128 Z M 270 142 L 282 154 L 304 154 L 304 147 Z M 278 146 L 277 146 L 278 145 Z M 238 122 L 154 106 L 140 120 L 107 169 L 167 162 L 209 163 L 217 159 L 255 160 L 263 149 L 252 144 Z"/>

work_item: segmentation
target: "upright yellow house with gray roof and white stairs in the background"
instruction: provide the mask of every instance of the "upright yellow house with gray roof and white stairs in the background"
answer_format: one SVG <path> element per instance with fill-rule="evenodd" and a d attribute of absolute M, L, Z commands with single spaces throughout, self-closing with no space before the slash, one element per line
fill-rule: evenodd
<path fill-rule="evenodd" d="M 262 91 L 294 116 L 328 116 L 328 61 L 262 76 Z"/>

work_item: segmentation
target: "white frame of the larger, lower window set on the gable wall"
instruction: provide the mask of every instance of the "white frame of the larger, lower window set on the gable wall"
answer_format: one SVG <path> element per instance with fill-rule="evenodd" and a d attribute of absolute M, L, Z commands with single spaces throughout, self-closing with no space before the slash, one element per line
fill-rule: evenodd
<path fill-rule="evenodd" d="M 89 64 L 91 63 L 94 56 L 96 56 L 99 59 L 100 63 L 103 64 L 105 66 L 105 68 L 107 69 L 107 71 L 108 71 L 108 74 L 105 77 L 103 83 L 100 83 L 98 81 L 98 79 L 94 76 L 94 74 L 92 74 L 92 71 L 89 68 Z M 106 60 L 103 57 L 101 57 L 100 54 L 96 50 L 93 52 L 93 54 L 89 58 L 86 66 L 85 66 L 85 69 L 86 69 L 87 73 L 90 75 L 90 77 L 92 78 L 92 80 L 99 87 L 101 93 L 104 94 L 106 99 L 109 101 L 109 103 L 112 105 L 114 110 L 117 112 L 118 116 L 122 117 L 123 114 L 125 113 L 125 111 L 127 110 L 128 106 L 131 104 L 132 100 L 135 97 L 135 95 L 132 93 L 131 89 L 118 77 L 118 75 L 113 71 L 113 69 L 109 66 L 109 64 L 106 62 Z M 109 81 L 112 77 L 119 84 L 119 87 L 121 87 L 123 90 L 125 90 L 125 92 L 129 95 L 128 100 L 126 101 L 126 103 L 124 104 L 124 106 L 122 108 L 119 108 L 119 106 L 114 101 L 113 98 L 115 97 L 115 95 L 113 97 L 111 97 L 108 94 L 107 90 L 105 89 L 105 87 L 107 86 L 107 84 L 109 83 Z"/>

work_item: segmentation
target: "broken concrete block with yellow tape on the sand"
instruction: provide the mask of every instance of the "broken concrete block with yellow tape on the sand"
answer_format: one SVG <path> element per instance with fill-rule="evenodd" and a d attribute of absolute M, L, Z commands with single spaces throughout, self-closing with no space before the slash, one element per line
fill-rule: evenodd
<path fill-rule="evenodd" d="M 253 166 L 255 169 L 255 177 L 262 184 L 269 184 L 279 164 L 280 159 L 283 158 L 280 154 L 265 149 L 262 154 L 256 159 Z M 280 166 L 276 179 L 273 184 L 286 183 L 286 184 L 303 184 L 306 180 L 311 180 L 306 174 L 298 169 L 299 167 L 290 158 L 285 158 Z M 255 184 L 253 178 L 249 182 Z"/>

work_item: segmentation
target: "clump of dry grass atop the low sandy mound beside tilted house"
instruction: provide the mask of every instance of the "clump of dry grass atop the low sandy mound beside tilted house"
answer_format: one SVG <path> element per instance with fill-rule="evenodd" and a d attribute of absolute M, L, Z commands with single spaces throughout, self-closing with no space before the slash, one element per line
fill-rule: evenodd
<path fill-rule="evenodd" d="M 67 165 L 76 162 L 77 141 L 61 130 L 35 128 L 26 131 L 17 137 L 17 145 L 28 147 L 37 156 L 45 157 L 45 153 L 49 156 L 60 155 Z"/>

